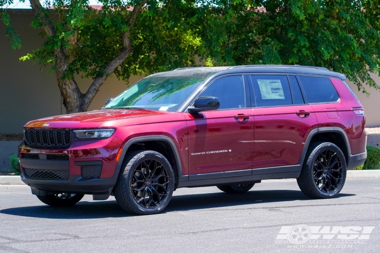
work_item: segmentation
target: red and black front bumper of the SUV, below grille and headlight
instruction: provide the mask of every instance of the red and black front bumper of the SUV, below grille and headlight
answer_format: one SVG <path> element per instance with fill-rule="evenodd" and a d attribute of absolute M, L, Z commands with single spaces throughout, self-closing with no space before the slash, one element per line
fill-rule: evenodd
<path fill-rule="evenodd" d="M 106 199 L 118 178 L 116 157 L 122 145 L 123 140 L 117 137 L 75 142 L 68 149 L 21 145 L 21 180 L 34 195 L 69 192 Z M 63 156 L 65 159 L 57 159 Z"/>

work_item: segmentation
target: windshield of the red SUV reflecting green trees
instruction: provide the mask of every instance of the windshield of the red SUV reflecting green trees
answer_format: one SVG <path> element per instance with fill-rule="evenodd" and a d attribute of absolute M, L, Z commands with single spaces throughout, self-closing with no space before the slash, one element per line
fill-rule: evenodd
<path fill-rule="evenodd" d="M 152 76 L 135 83 L 103 109 L 177 111 L 206 77 Z"/>

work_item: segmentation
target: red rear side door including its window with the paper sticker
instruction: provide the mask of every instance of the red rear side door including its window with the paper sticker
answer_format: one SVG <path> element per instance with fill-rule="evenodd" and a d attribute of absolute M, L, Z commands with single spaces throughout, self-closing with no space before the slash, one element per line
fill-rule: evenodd
<path fill-rule="evenodd" d="M 298 164 L 317 117 L 305 104 L 296 76 L 252 74 L 250 81 L 256 106 L 253 168 Z"/>

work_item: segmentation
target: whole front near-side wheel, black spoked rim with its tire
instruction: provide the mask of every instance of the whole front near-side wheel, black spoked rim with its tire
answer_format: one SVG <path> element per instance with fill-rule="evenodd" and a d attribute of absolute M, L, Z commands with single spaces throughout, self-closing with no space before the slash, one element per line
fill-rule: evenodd
<path fill-rule="evenodd" d="M 151 150 L 132 152 L 125 159 L 114 188 L 118 204 L 135 215 L 161 212 L 173 191 L 174 173 L 169 161 Z"/>

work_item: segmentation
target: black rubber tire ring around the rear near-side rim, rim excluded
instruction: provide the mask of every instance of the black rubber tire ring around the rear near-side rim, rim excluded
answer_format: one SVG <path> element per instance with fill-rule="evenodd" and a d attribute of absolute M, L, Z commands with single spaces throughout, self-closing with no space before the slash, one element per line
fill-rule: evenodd
<path fill-rule="evenodd" d="M 329 150 L 329 149 L 333 150 L 334 152 L 336 152 L 336 154 L 339 156 L 339 159 L 341 160 L 341 164 L 342 164 L 342 172 L 341 172 L 342 181 L 341 181 L 339 187 L 336 190 L 334 190 L 333 192 L 330 192 L 330 193 L 325 193 L 325 192 L 321 191 L 317 187 L 317 185 L 315 184 L 314 177 L 313 177 L 313 166 L 314 166 L 314 162 L 317 159 L 318 155 L 321 152 L 323 152 L 325 150 Z M 335 144 L 329 143 L 329 142 L 321 143 L 321 144 L 319 144 L 317 147 L 315 147 L 312 150 L 310 156 L 307 157 L 307 158 L 309 158 L 309 159 L 308 159 L 308 161 L 305 164 L 306 165 L 305 168 L 307 169 L 306 177 L 307 177 L 307 181 L 311 182 L 310 186 L 312 186 L 314 188 L 313 190 L 314 190 L 314 193 L 316 194 L 316 197 L 318 197 L 318 198 L 333 198 L 337 194 L 339 194 L 339 192 L 341 191 L 341 189 L 345 185 L 346 176 L 347 176 L 346 158 L 345 158 L 343 152 L 339 149 L 339 147 L 337 147 Z"/>

